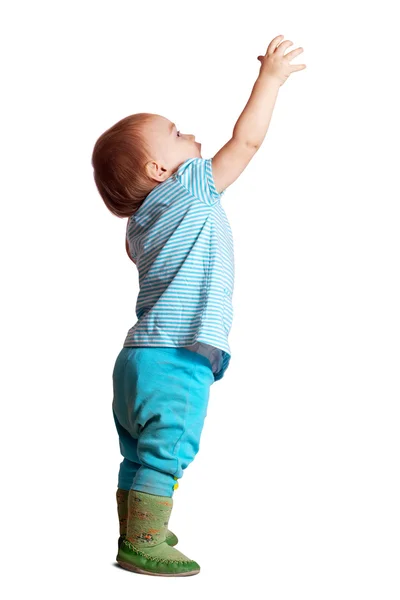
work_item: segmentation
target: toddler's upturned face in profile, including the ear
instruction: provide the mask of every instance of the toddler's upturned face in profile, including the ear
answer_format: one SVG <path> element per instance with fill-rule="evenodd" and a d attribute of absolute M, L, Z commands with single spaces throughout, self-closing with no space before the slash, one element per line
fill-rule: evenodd
<path fill-rule="evenodd" d="M 194 135 L 181 133 L 165 117 L 155 115 L 144 133 L 152 153 L 147 168 L 156 181 L 168 179 L 189 158 L 201 158 L 201 144 Z"/>

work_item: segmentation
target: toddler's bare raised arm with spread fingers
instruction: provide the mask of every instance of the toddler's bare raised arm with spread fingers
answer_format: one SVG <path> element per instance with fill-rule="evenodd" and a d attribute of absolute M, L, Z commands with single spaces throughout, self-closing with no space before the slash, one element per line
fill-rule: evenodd
<path fill-rule="evenodd" d="M 215 187 L 220 193 L 230 186 L 244 171 L 261 146 L 280 86 L 293 71 L 305 69 L 306 65 L 290 65 L 302 48 L 284 55 L 293 42 L 283 42 L 283 35 L 274 38 L 265 56 L 259 56 L 261 68 L 250 98 L 233 129 L 232 138 L 212 159 Z"/>

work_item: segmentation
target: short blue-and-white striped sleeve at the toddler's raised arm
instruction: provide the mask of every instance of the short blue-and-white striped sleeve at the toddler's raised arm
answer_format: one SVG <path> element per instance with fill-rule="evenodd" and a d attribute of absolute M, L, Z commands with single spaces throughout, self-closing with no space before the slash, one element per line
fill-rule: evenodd
<path fill-rule="evenodd" d="M 225 194 L 217 192 L 212 172 L 212 158 L 189 158 L 176 172 L 177 180 L 205 204 L 215 204 Z"/>

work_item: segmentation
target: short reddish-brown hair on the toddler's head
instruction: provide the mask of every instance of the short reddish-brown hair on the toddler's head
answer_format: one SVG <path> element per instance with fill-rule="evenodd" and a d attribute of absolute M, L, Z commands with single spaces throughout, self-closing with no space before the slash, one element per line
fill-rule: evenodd
<path fill-rule="evenodd" d="M 151 160 L 143 125 L 151 113 L 136 113 L 121 119 L 97 140 L 92 153 L 96 187 L 113 215 L 133 215 L 157 185 L 145 169 Z"/>

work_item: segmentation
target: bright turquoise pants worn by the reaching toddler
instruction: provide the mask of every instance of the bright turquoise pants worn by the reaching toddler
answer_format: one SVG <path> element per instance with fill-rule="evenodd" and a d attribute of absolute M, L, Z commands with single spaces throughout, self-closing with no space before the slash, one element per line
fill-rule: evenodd
<path fill-rule="evenodd" d="M 200 446 L 211 363 L 186 348 L 122 348 L 113 371 L 118 487 L 171 497 Z"/>

